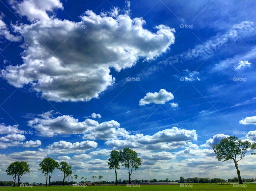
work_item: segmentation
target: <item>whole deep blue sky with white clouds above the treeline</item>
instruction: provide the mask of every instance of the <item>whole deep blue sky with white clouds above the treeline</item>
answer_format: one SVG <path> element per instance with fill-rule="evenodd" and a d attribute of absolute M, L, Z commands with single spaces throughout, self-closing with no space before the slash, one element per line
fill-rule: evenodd
<path fill-rule="evenodd" d="M 22 181 L 43 182 L 46 156 L 114 180 L 107 158 L 124 146 L 142 158 L 132 179 L 236 176 L 212 145 L 256 141 L 253 1 L 0 4 L 1 180 L 26 160 Z"/>

